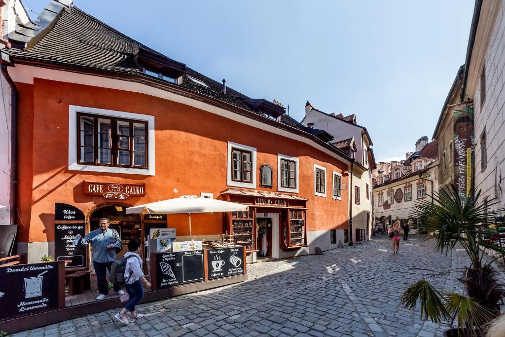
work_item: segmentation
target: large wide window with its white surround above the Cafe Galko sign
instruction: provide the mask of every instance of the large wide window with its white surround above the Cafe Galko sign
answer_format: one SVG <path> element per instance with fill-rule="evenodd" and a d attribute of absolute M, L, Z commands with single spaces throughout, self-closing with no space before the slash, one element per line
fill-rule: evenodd
<path fill-rule="evenodd" d="M 111 121 L 117 124 L 117 132 L 111 130 Z M 87 132 L 91 122 L 97 124 L 96 132 Z M 122 123 L 128 123 L 133 133 L 123 134 Z M 69 170 L 155 175 L 154 116 L 71 105 L 68 134 Z"/>

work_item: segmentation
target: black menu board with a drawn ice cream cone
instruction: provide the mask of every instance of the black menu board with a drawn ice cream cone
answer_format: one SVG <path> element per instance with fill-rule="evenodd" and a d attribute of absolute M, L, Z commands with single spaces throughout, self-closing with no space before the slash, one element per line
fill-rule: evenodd
<path fill-rule="evenodd" d="M 158 289 L 204 280 L 204 251 L 156 254 Z"/>

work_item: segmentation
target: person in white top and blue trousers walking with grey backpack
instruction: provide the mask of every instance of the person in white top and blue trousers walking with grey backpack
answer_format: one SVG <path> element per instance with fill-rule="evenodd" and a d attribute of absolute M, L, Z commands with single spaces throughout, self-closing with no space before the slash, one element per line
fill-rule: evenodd
<path fill-rule="evenodd" d="M 135 257 L 126 260 L 126 267 L 124 278 L 126 282 L 126 292 L 130 296 L 128 304 L 118 312 L 114 317 L 120 322 L 128 324 L 129 322 L 134 322 L 138 318 L 142 318 L 142 314 L 138 314 L 135 311 L 135 306 L 138 301 L 144 297 L 144 288 L 142 283 L 146 287 L 150 288 L 151 284 L 145 279 L 144 273 L 142 272 L 142 259 L 138 255 L 140 253 L 140 244 L 136 239 L 131 239 L 128 243 L 128 252 L 125 257 L 133 255 Z M 130 312 L 130 317 L 126 318 L 126 312 Z"/>

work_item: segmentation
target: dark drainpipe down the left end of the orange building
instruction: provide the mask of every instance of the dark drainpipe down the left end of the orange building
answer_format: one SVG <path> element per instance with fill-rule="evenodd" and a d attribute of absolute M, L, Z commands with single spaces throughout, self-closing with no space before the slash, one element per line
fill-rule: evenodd
<path fill-rule="evenodd" d="M 11 204 L 11 225 L 16 224 L 16 212 L 18 209 L 17 205 L 17 148 L 16 144 L 18 141 L 18 123 L 17 123 L 17 106 L 18 106 L 18 90 L 16 88 L 16 84 L 12 80 L 11 76 L 9 76 L 9 72 L 7 71 L 7 66 L 5 64 L 0 65 L 0 70 L 4 75 L 7 83 L 11 87 L 11 195 L 10 195 L 10 204 Z"/>

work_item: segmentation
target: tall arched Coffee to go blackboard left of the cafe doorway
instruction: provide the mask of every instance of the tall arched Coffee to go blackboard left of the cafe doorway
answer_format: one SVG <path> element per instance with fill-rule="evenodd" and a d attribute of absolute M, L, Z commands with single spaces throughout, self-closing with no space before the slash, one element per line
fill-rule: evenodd
<path fill-rule="evenodd" d="M 55 204 L 55 260 L 71 260 L 67 268 L 85 267 L 87 248 L 73 246 L 75 235 L 86 235 L 84 214 L 76 207 Z"/>

